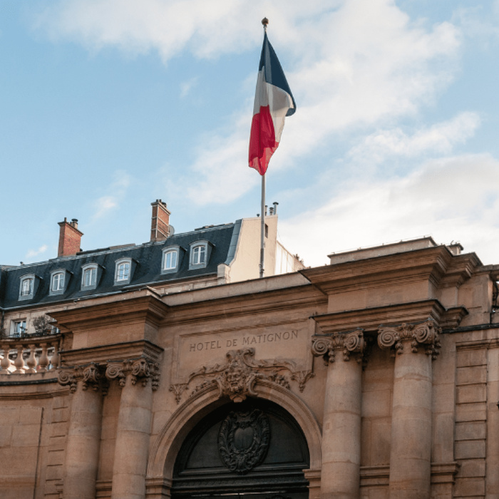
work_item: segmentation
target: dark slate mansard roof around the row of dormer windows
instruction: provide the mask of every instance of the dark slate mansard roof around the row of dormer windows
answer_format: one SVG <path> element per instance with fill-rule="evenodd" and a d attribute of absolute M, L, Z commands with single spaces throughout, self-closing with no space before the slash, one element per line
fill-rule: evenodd
<path fill-rule="evenodd" d="M 4 310 L 26 307 L 31 304 L 50 304 L 94 295 L 120 292 L 145 285 L 174 282 L 217 275 L 220 264 L 230 264 L 240 235 L 241 220 L 225 225 L 202 227 L 192 232 L 175 234 L 163 241 L 146 242 L 143 245 L 110 247 L 78 252 L 68 257 L 49 259 L 46 262 L 0 266 L 0 307 Z M 190 247 L 195 242 L 207 242 L 205 267 L 189 268 Z M 178 269 L 162 273 L 163 250 L 180 248 Z M 115 265 L 120 259 L 132 259 L 132 274 L 126 284 L 115 284 Z M 95 289 L 81 289 L 83 267 L 97 264 L 98 282 Z M 66 286 L 61 294 L 51 294 L 51 273 L 66 270 Z M 19 299 L 19 287 L 24 276 L 34 275 L 37 284 L 34 296 Z"/>

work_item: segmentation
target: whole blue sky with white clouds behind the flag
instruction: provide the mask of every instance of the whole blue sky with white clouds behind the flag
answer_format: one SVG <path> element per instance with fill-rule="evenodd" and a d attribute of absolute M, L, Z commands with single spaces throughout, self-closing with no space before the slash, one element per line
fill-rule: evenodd
<path fill-rule="evenodd" d="M 499 263 L 499 0 L 0 0 L 0 264 L 254 217 L 261 20 L 297 103 L 266 175 L 307 266 L 430 235 Z"/>

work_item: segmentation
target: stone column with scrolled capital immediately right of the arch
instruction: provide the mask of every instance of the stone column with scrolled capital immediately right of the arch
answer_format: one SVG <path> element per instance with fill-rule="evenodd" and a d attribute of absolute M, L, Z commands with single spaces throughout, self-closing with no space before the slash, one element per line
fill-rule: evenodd
<path fill-rule="evenodd" d="M 329 368 L 324 393 L 321 498 L 358 499 L 361 463 L 362 331 L 314 336 Z M 355 354 L 356 359 L 351 359 Z"/>

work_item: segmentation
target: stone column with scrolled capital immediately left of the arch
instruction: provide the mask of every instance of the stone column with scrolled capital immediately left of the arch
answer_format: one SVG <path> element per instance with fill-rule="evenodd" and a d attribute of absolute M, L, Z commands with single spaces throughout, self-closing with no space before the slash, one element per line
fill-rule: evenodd
<path fill-rule="evenodd" d="M 108 379 L 118 379 L 123 388 L 116 429 L 112 499 L 145 498 L 155 387 L 150 375 L 150 365 L 145 359 L 110 364 L 106 371 Z"/>

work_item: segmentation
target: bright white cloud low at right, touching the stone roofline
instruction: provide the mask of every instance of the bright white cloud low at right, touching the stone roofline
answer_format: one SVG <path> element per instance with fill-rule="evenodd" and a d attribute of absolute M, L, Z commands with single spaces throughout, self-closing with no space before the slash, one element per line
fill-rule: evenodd
<path fill-rule="evenodd" d="M 326 252 L 433 235 L 438 243 L 480 247 L 484 263 L 499 247 L 499 161 L 489 155 L 431 160 L 404 178 L 358 182 L 317 210 L 281 220 L 286 247 L 326 263 Z"/>

